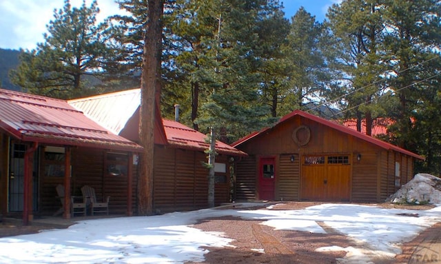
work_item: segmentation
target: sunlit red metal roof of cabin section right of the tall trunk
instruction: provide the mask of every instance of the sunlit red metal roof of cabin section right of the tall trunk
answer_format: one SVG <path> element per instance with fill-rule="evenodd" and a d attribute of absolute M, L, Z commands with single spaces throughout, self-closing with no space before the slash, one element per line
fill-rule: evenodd
<path fill-rule="evenodd" d="M 176 121 L 163 119 L 163 125 L 170 145 L 202 151 L 209 148 L 209 143 L 206 142 L 207 135 Z M 221 141 L 216 141 L 216 152 L 220 154 L 236 154 L 240 156 L 247 155 L 245 152 L 237 150 Z"/>

